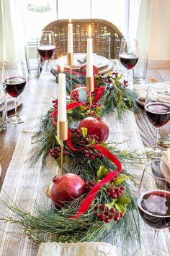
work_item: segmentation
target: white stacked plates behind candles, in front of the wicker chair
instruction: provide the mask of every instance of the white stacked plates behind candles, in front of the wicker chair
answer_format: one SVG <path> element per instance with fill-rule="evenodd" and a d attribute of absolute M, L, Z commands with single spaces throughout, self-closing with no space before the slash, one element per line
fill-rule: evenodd
<path fill-rule="evenodd" d="M 96 66 L 98 69 L 107 66 L 107 64 L 109 63 L 109 59 L 105 58 L 104 56 L 100 56 L 97 54 L 93 54 L 93 64 L 94 66 Z M 61 58 L 58 58 L 56 60 L 56 64 L 58 66 L 61 65 Z M 67 65 L 67 56 L 63 56 L 63 61 L 64 61 L 64 66 L 68 67 Z M 84 64 L 86 64 L 86 54 L 73 54 L 73 67 L 72 69 L 80 69 L 81 66 L 83 66 Z M 56 69 L 55 64 L 52 64 L 52 68 Z"/>

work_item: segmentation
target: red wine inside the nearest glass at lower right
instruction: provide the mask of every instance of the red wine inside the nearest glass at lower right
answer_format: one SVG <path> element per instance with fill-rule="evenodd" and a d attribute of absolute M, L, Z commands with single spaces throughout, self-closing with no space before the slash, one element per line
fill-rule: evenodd
<path fill-rule="evenodd" d="M 143 221 L 153 229 L 170 226 L 170 192 L 151 190 L 140 196 L 138 209 Z"/>

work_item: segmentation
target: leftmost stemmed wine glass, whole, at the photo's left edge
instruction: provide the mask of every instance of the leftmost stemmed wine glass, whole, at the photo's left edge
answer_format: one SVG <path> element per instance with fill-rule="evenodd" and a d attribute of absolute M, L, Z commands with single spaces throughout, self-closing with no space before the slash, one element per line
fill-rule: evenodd
<path fill-rule="evenodd" d="M 23 92 L 26 85 L 26 76 L 22 61 L 4 61 L 2 67 L 2 83 L 6 85 L 6 93 L 14 97 L 15 114 L 9 116 L 10 124 L 24 122 L 25 116 L 17 114 L 17 97 Z"/>

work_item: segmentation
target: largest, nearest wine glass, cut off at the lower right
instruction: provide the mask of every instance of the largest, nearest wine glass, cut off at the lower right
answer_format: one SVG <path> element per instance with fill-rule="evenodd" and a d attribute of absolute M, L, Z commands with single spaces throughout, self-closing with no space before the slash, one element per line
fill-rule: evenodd
<path fill-rule="evenodd" d="M 165 158 L 146 164 L 138 191 L 138 210 L 143 221 L 155 230 L 152 247 L 138 249 L 134 256 L 168 255 L 158 248 L 158 231 L 170 226 L 170 161 Z"/>

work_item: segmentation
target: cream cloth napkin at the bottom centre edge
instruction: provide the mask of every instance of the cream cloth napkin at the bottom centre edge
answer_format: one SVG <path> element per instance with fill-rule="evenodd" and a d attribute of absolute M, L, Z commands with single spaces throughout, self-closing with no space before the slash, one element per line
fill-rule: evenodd
<path fill-rule="evenodd" d="M 37 256 L 119 256 L 117 247 L 102 242 L 40 244 Z"/>

